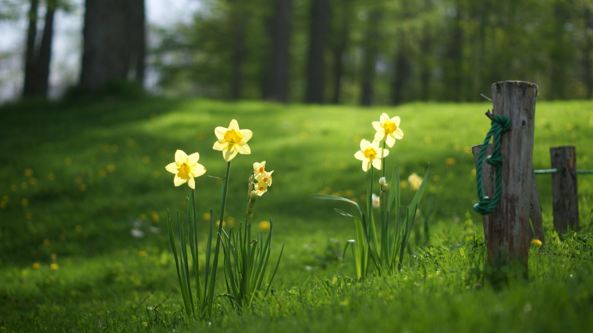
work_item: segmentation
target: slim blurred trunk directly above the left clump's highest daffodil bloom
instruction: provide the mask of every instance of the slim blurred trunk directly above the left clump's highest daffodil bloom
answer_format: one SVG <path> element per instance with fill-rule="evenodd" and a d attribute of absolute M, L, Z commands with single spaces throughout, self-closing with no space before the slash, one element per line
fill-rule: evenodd
<path fill-rule="evenodd" d="M 243 88 L 243 62 L 245 59 L 245 27 L 247 15 L 241 0 L 229 0 L 231 5 L 231 25 L 233 33 L 231 63 L 231 100 L 241 99 Z"/>

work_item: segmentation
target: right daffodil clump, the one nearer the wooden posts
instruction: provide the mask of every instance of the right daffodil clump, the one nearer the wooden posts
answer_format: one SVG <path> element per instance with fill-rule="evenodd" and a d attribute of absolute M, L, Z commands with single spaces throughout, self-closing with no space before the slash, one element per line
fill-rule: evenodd
<path fill-rule="evenodd" d="M 335 209 L 336 212 L 353 217 L 356 225 L 356 239 L 346 243 L 352 249 L 356 277 L 361 279 L 370 273 L 391 274 L 401 267 L 404 251 L 416 218 L 417 206 L 424 191 L 426 177 L 420 178 L 413 174 L 408 179 L 416 194 L 405 212 L 400 205 L 400 172 L 398 165 L 394 165 L 391 181 L 385 174 L 385 158 L 390 155 L 389 148 L 393 148 L 397 140 L 403 139 L 404 133 L 400 128 L 400 117 L 390 118 L 386 113 L 381 114 L 379 121 L 373 121 L 374 139 L 362 139 L 360 149 L 354 157 L 362 161 L 362 171 L 367 174 L 366 212 L 355 201 L 328 194 L 313 194 L 320 199 L 346 201 L 358 209 L 358 215 Z M 379 194 L 373 191 L 376 178 L 374 170 L 380 171 L 378 176 Z M 379 210 L 379 214 L 373 212 Z M 375 222 L 380 222 L 379 231 Z"/>

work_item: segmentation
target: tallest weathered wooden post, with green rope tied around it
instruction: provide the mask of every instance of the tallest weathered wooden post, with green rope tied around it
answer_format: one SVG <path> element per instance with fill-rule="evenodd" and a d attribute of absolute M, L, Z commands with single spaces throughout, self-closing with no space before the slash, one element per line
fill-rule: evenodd
<path fill-rule="evenodd" d="M 502 273 L 500 267 L 518 261 L 525 277 L 531 242 L 529 216 L 536 96 L 537 85 L 529 82 L 503 81 L 492 85 L 493 113 L 508 116 L 511 129 L 502 134 L 500 144 L 502 191 L 498 206 L 490 216 L 486 241 L 488 262 L 496 272 Z"/>

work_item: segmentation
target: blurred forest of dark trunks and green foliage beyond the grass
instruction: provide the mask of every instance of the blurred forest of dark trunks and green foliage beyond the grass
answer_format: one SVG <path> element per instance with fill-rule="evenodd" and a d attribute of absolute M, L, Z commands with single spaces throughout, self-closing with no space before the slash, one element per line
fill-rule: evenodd
<path fill-rule="evenodd" d="M 474 101 L 508 79 L 548 100 L 593 96 L 591 0 L 76 1 L 0 0 L 0 30 L 23 30 L 0 34 L 4 100 L 47 97 L 54 81 L 316 104 Z M 184 19 L 160 22 L 173 4 Z M 147 21 L 147 6 L 160 16 Z M 81 18 L 75 60 L 52 66 L 68 15 Z"/>

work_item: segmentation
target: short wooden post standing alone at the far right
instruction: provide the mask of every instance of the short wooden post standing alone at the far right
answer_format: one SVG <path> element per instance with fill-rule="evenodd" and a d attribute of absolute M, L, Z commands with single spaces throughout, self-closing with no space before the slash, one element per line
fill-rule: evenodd
<path fill-rule="evenodd" d="M 552 206 L 557 232 L 579 229 L 579 198 L 576 191 L 576 148 L 550 148 L 551 167 L 564 169 L 552 174 Z"/>

